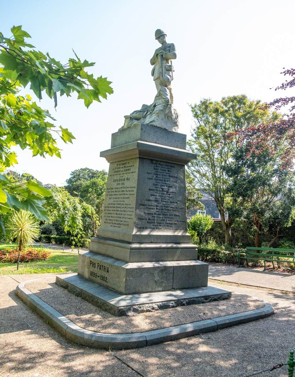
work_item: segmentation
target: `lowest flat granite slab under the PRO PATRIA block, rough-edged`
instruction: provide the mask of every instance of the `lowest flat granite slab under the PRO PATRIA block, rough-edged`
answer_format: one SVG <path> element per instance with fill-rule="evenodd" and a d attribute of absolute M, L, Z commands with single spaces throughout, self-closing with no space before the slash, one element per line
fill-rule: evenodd
<path fill-rule="evenodd" d="M 56 284 L 114 316 L 155 311 L 182 305 L 230 299 L 231 292 L 215 287 L 187 288 L 154 293 L 120 294 L 78 274 L 56 277 Z"/>

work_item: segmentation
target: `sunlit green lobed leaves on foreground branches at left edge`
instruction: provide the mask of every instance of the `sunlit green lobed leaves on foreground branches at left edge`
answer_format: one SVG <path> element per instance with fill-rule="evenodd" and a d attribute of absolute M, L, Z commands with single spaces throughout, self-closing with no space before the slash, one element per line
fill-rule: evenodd
<path fill-rule="evenodd" d="M 41 196 L 51 193 L 32 180 L 21 184 L 3 172 L 17 163 L 12 147 L 31 149 L 32 155 L 57 156 L 60 149 L 54 135 L 65 143 L 72 143 L 74 136 L 67 129 L 55 127 L 53 116 L 38 106 L 29 95 L 20 95 L 19 90 L 28 84 L 41 100 L 47 95 L 57 106 L 57 95 L 71 96 L 76 92 L 88 107 L 93 101 L 100 102 L 107 93 L 113 92 L 106 78 L 94 78 L 85 70 L 94 63 L 75 58 L 62 64 L 44 54 L 26 41 L 30 35 L 21 26 L 11 28 L 12 37 L 0 32 L 0 226 L 5 232 L 1 214 L 9 208 L 24 209 L 41 220 L 48 221 Z"/>

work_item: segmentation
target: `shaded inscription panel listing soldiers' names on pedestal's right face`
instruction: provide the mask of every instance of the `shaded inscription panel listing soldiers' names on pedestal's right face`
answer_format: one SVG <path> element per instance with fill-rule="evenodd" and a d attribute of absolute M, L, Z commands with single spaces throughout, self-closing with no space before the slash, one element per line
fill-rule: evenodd
<path fill-rule="evenodd" d="M 140 159 L 135 231 L 186 231 L 186 189 L 183 165 Z"/>

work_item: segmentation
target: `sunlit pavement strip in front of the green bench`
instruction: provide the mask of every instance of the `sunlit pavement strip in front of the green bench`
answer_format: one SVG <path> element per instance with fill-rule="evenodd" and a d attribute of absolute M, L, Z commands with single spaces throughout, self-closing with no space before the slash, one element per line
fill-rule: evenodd
<path fill-rule="evenodd" d="M 209 278 L 222 282 L 250 285 L 295 293 L 295 276 L 290 273 L 263 271 L 263 268 L 237 268 L 209 264 Z"/>

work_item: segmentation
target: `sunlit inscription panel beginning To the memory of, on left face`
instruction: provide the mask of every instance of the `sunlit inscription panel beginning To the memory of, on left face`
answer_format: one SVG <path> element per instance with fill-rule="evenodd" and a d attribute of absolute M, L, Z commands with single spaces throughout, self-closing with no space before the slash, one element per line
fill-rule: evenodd
<path fill-rule="evenodd" d="M 101 227 L 113 230 L 134 228 L 138 158 L 111 162 Z"/>

